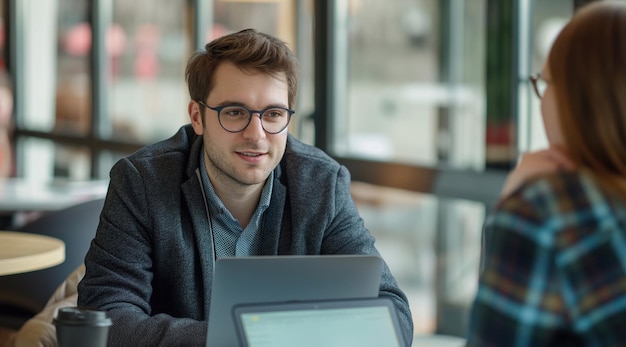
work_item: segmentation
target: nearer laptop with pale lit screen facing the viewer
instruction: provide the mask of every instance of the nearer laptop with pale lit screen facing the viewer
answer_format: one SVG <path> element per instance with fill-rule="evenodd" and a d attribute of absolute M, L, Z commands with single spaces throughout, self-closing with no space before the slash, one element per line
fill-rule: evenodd
<path fill-rule="evenodd" d="M 406 347 L 389 298 L 237 305 L 243 347 Z"/>

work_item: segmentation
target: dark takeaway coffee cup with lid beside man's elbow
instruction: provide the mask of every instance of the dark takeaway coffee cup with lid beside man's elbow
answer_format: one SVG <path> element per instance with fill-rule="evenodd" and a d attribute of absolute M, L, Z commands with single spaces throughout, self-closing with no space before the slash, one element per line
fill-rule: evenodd
<path fill-rule="evenodd" d="M 54 319 L 59 347 L 105 347 L 111 319 L 105 311 L 63 307 Z"/>

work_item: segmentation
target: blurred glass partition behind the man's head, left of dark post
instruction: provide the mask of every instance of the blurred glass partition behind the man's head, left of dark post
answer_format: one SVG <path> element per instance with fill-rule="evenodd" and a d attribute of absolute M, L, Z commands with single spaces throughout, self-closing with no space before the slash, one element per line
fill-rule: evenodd
<path fill-rule="evenodd" d="M 244 28 L 281 38 L 300 58 L 294 135 L 312 112 L 312 0 L 11 3 L 18 176 L 106 177 L 120 156 L 171 136 L 189 122 L 188 58 Z M 33 147 L 31 139 L 46 140 Z M 80 153 L 68 149 L 76 144 Z M 52 158 L 47 167 L 33 148 Z"/>

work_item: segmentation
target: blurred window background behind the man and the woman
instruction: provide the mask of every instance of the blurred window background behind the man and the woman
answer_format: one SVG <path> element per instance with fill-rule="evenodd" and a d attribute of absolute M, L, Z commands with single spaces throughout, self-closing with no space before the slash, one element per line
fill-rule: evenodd
<path fill-rule="evenodd" d="M 463 336 L 485 214 L 546 144 L 528 76 L 584 2 L 0 0 L 7 176 L 106 179 L 188 123 L 189 56 L 256 28 L 299 57 L 290 131 L 350 169 L 416 333 Z"/>

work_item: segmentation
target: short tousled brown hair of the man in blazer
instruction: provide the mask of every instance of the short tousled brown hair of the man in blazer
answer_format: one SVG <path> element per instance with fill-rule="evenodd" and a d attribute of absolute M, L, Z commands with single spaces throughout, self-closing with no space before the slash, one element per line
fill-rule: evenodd
<path fill-rule="evenodd" d="M 289 107 L 293 108 L 300 68 L 285 42 L 254 29 L 245 29 L 215 39 L 204 48 L 189 58 L 185 70 L 192 100 L 204 100 L 215 85 L 213 74 L 219 64 L 230 62 L 242 70 L 257 70 L 269 76 L 284 72 L 289 88 Z"/>

